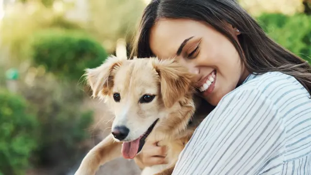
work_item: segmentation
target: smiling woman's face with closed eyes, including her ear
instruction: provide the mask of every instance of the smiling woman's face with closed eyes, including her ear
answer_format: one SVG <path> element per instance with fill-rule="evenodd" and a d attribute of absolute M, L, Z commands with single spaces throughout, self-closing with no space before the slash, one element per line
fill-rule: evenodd
<path fill-rule="evenodd" d="M 237 39 L 239 32 L 228 28 Z M 151 29 L 150 47 L 160 59 L 176 57 L 195 73 L 201 96 L 214 106 L 249 74 L 229 39 L 203 22 L 161 19 Z"/>

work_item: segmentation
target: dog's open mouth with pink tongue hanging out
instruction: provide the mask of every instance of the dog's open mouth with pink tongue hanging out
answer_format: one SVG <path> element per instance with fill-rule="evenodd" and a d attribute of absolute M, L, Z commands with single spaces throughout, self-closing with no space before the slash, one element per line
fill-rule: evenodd
<path fill-rule="evenodd" d="M 156 119 L 154 123 L 152 123 L 147 131 L 142 134 L 138 139 L 128 142 L 123 142 L 122 144 L 122 156 L 124 158 L 132 159 L 134 158 L 142 149 L 145 144 L 146 138 L 149 136 L 151 131 L 154 129 L 155 124 L 158 122 L 159 119 Z"/>

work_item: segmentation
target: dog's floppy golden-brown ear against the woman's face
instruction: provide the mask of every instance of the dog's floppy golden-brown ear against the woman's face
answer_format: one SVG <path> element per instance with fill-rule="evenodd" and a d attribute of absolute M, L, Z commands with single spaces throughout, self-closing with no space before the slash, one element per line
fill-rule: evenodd
<path fill-rule="evenodd" d="M 165 107 L 172 107 L 181 97 L 194 88 L 194 74 L 174 59 L 158 60 L 153 66 L 160 78 L 160 88 Z"/>

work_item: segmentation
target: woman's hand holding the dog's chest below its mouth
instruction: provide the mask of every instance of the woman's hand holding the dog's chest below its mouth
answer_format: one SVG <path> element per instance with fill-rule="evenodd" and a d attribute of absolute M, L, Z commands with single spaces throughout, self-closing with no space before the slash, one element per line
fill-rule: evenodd
<path fill-rule="evenodd" d="M 134 158 L 140 169 L 144 167 L 166 164 L 166 146 L 158 146 L 157 142 L 146 142 L 140 154 Z"/>

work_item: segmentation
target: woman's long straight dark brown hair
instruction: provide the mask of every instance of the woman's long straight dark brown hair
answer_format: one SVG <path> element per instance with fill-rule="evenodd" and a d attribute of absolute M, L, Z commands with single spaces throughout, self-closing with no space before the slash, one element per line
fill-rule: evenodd
<path fill-rule="evenodd" d="M 131 56 L 155 56 L 149 33 L 160 18 L 188 18 L 205 21 L 235 46 L 249 72 L 280 71 L 294 76 L 311 94 L 311 66 L 270 39 L 235 0 L 152 0 L 145 8 Z M 240 30 L 238 41 L 227 31 L 223 20 Z"/>

